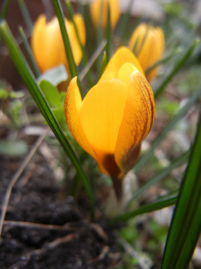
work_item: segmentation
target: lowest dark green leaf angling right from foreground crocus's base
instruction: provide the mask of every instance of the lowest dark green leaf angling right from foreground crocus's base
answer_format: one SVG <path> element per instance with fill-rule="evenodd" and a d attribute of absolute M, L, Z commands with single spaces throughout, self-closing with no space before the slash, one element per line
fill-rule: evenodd
<path fill-rule="evenodd" d="M 171 195 L 170 197 L 164 197 L 164 198 L 157 199 L 153 202 L 150 202 L 150 203 L 147 203 L 145 205 L 140 206 L 139 209 L 129 211 L 127 213 L 124 213 L 122 215 L 117 216 L 114 219 L 111 219 L 110 224 L 115 224 L 115 223 L 120 222 L 120 221 L 126 221 L 130 218 L 136 217 L 136 216 L 141 215 L 141 214 L 145 214 L 145 213 L 153 212 L 155 210 L 167 208 L 167 206 L 175 204 L 176 199 L 177 199 L 177 195 L 174 195 L 174 196 Z M 174 268 L 174 267 L 169 267 L 169 268 Z"/>

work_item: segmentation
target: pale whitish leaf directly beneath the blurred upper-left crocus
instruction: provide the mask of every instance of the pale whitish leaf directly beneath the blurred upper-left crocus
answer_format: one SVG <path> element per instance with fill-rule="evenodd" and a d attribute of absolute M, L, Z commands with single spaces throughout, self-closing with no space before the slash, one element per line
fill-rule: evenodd
<path fill-rule="evenodd" d="M 63 65 L 48 69 L 38 77 L 38 81 L 47 80 L 57 86 L 60 82 L 67 80 L 68 73 Z"/>

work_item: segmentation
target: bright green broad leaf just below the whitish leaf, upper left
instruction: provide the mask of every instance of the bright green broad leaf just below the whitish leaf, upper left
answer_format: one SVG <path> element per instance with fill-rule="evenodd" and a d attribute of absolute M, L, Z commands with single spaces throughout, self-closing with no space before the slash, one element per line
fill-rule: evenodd
<path fill-rule="evenodd" d="M 63 108 L 59 91 L 54 85 L 49 81 L 41 80 L 39 86 L 51 108 Z"/>

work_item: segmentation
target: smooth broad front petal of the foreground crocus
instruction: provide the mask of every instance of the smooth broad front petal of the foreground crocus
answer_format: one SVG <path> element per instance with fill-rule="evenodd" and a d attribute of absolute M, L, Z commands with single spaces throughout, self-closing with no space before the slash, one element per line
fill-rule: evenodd
<path fill-rule="evenodd" d="M 127 98 L 127 85 L 118 78 L 99 81 L 86 95 L 79 111 L 84 133 L 98 163 L 110 175 L 120 173 L 114 159 L 117 135 Z"/>

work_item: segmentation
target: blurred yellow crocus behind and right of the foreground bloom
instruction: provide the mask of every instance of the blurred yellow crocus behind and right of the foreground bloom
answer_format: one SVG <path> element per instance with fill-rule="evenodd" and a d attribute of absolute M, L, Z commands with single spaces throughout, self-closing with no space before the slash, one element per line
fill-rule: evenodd
<path fill-rule="evenodd" d="M 160 27 L 153 27 L 145 23 L 140 24 L 132 33 L 128 48 L 133 50 L 143 70 L 152 66 L 164 53 L 165 39 Z M 152 69 L 146 78 L 148 81 L 157 76 L 158 67 Z"/>

